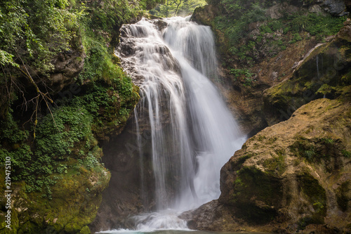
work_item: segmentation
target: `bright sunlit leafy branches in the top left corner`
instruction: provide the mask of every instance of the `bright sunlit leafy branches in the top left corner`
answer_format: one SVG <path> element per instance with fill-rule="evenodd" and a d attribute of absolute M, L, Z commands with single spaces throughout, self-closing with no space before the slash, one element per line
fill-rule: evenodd
<path fill-rule="evenodd" d="M 67 6 L 67 1 L 1 1 L 0 63 L 18 67 L 21 56 L 40 72 L 50 71 L 51 57 L 69 49 L 76 35 L 77 14 Z"/>

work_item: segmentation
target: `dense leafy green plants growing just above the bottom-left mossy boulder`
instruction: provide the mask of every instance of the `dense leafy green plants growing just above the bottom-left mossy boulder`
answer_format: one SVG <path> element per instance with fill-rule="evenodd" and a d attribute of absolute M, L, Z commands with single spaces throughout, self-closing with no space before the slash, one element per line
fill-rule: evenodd
<path fill-rule="evenodd" d="M 95 147 L 91 132 L 91 114 L 84 108 L 62 106 L 53 109 L 53 117 L 55 122 L 50 115 L 39 119 L 37 138 L 33 142 L 11 115 L 0 129 L 0 140 L 4 144 L 0 149 L 1 164 L 6 157 L 11 157 L 13 181 L 25 181 L 27 192 L 42 191 L 49 199 L 51 186 L 60 178 L 55 175 L 67 173 L 67 162 L 83 159 L 87 169 L 99 164 L 99 148 Z"/>

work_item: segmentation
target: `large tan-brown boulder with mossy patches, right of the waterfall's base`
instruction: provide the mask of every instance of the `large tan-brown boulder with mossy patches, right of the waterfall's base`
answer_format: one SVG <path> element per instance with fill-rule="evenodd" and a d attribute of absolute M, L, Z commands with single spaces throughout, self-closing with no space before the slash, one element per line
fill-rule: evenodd
<path fill-rule="evenodd" d="M 350 231 L 350 96 L 346 99 L 314 100 L 250 138 L 223 167 L 219 200 L 188 217 L 192 228 Z M 206 221 L 208 210 L 213 215 Z"/>

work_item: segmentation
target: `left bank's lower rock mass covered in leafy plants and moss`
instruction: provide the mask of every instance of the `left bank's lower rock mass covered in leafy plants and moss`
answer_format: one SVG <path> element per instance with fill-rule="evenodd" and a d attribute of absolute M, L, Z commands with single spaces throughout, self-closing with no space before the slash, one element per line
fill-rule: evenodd
<path fill-rule="evenodd" d="M 79 86 L 76 96 L 62 98 L 39 119 L 34 132 L 20 129 L 20 122 L 8 114 L 0 129 L 0 151 L 1 162 L 11 157 L 12 230 L 1 226 L 1 231 L 90 233 L 88 224 L 111 176 L 100 162 L 98 141 L 124 129 L 139 98 L 138 89 L 131 88 L 129 96 L 119 96 L 105 82 Z M 5 207 L 5 197 L 0 202 Z M 1 223 L 6 212 L 1 209 Z"/>

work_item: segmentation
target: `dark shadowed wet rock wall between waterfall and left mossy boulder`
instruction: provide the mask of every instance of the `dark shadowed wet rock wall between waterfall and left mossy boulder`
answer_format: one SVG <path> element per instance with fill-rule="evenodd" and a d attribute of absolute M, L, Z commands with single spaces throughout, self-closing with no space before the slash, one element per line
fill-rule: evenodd
<path fill-rule="evenodd" d="M 138 141 L 135 134 L 133 118 L 126 124 L 126 129 L 119 135 L 103 144 L 102 162 L 111 172 L 109 187 L 102 193 L 102 203 L 95 221 L 89 226 L 92 233 L 114 228 L 133 228 L 129 216 L 148 212 L 154 208 L 150 200 L 154 191 L 152 159 L 140 160 Z M 143 134 L 144 150 L 150 149 L 150 133 Z M 150 154 L 149 154 L 150 155 Z M 140 163 L 143 162 L 143 165 Z M 143 183 L 148 188 L 143 191 Z"/>

